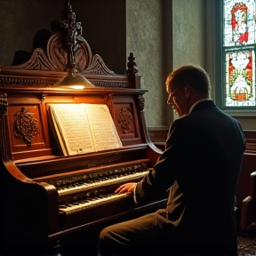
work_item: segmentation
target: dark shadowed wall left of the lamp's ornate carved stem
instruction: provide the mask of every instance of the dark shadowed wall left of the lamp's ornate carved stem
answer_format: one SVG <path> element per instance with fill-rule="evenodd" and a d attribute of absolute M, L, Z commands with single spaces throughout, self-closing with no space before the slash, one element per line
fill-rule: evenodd
<path fill-rule="evenodd" d="M 32 51 L 33 39 L 41 28 L 50 29 L 52 20 L 60 18 L 61 0 L 0 1 L 0 63 L 11 65 L 17 50 Z"/>

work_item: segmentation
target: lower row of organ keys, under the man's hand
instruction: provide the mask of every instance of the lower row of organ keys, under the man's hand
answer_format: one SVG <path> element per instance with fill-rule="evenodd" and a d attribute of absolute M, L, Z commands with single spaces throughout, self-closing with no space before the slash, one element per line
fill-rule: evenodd
<path fill-rule="evenodd" d="M 92 207 L 98 206 L 100 204 L 106 204 L 109 202 L 116 201 L 120 198 L 124 198 L 126 196 L 130 196 L 131 193 L 126 194 L 108 194 L 104 196 L 98 196 L 98 197 L 92 197 L 90 199 L 76 201 L 73 203 L 67 203 L 67 204 L 60 204 L 59 205 L 59 211 L 65 212 L 67 215 L 80 212 L 83 210 L 91 209 Z"/>

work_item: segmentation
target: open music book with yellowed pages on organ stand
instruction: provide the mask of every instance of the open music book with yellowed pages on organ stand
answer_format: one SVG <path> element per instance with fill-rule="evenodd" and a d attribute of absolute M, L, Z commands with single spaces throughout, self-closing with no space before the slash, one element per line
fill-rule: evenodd
<path fill-rule="evenodd" d="M 49 104 L 53 132 L 64 156 L 122 148 L 104 104 Z"/>

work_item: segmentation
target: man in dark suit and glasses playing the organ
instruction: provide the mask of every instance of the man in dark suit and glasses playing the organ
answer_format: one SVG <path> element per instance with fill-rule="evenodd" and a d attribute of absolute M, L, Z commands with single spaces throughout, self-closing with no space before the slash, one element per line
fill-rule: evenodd
<path fill-rule="evenodd" d="M 203 68 L 174 70 L 166 90 L 180 118 L 170 126 L 163 155 L 139 183 L 116 189 L 134 193 L 138 204 L 169 190 L 166 209 L 104 228 L 100 255 L 236 255 L 243 129 L 210 99 Z"/>

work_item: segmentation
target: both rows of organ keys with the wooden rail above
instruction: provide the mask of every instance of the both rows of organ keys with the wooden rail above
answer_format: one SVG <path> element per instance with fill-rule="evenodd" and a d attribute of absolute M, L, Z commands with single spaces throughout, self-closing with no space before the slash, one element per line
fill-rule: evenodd
<path fill-rule="evenodd" d="M 118 195 L 114 191 L 126 182 L 141 180 L 148 172 L 148 159 L 130 163 L 109 164 L 99 170 L 79 170 L 76 175 L 40 177 L 34 180 L 52 184 L 59 195 L 59 212 L 67 215 L 86 211 L 99 204 L 108 204 L 130 195 Z M 65 176 L 65 177 L 63 177 Z"/>

